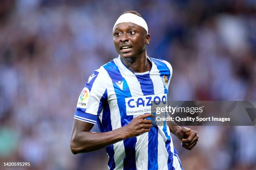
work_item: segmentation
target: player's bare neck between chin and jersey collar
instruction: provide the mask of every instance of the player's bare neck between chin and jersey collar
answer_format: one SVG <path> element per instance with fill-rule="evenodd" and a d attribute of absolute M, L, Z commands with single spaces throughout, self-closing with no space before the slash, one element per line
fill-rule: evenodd
<path fill-rule="evenodd" d="M 136 57 L 124 58 L 120 56 L 123 64 L 133 72 L 147 72 L 151 69 L 151 62 L 146 58 L 146 52 Z"/>

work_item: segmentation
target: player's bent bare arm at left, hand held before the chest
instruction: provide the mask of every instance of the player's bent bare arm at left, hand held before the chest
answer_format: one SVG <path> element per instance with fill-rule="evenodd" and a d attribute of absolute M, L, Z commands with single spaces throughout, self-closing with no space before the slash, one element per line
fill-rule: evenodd
<path fill-rule="evenodd" d="M 105 148 L 126 138 L 150 131 L 152 120 L 145 120 L 151 114 L 133 118 L 126 126 L 105 133 L 92 133 L 93 124 L 74 119 L 70 148 L 73 154 Z"/>

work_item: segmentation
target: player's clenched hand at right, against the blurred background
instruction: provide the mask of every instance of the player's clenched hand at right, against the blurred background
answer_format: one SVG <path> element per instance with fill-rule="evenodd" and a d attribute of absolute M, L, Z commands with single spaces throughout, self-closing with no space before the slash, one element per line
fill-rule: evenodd
<path fill-rule="evenodd" d="M 199 136 L 195 130 L 180 128 L 176 131 L 176 136 L 182 142 L 182 147 L 192 150 L 197 144 Z"/>

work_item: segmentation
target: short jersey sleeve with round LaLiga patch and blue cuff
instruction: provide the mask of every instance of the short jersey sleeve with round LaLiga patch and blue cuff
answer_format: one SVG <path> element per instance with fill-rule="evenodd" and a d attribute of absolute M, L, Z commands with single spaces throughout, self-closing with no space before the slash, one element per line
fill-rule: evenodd
<path fill-rule="evenodd" d="M 79 95 L 74 119 L 96 124 L 102 104 L 108 98 L 103 78 L 100 69 L 90 75 Z"/>

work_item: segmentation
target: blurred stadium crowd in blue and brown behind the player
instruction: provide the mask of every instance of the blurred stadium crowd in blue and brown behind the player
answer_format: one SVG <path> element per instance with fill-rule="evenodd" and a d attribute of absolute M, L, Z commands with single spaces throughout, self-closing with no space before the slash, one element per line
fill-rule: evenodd
<path fill-rule="evenodd" d="M 105 149 L 73 155 L 69 139 L 84 83 L 118 57 L 126 10 L 148 23 L 148 55 L 172 64 L 169 99 L 256 100 L 255 0 L 1 0 L 0 169 L 108 169 Z M 192 128 L 192 151 L 173 137 L 184 170 L 256 170 L 255 126 Z"/>

